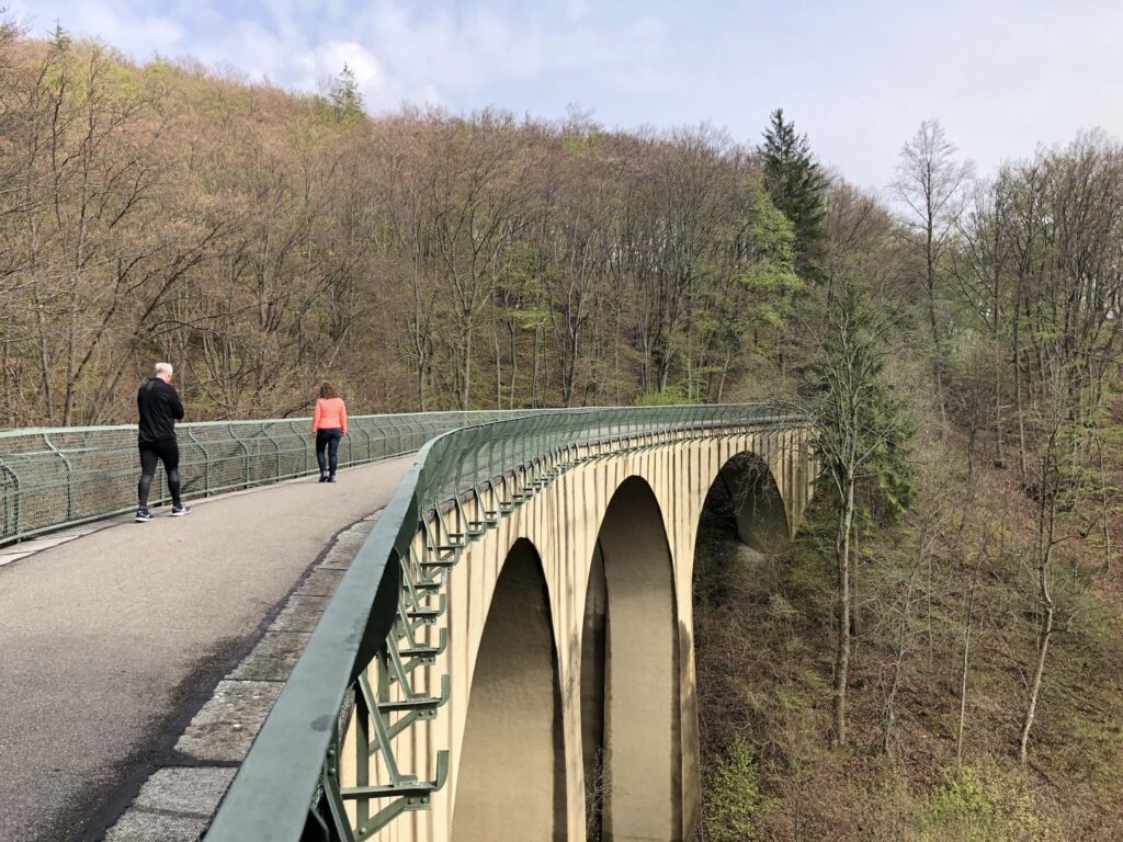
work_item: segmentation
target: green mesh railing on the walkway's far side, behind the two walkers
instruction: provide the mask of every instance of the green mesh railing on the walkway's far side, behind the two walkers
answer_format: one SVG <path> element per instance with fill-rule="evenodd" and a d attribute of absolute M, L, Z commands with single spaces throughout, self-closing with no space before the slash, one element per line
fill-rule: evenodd
<path fill-rule="evenodd" d="M 427 412 L 348 419 L 339 464 L 417 450 L 448 430 L 519 412 Z M 200 497 L 317 473 L 311 420 L 179 424 L 183 495 Z M 161 468 L 163 472 L 163 468 Z M 62 427 L 0 432 L 0 544 L 136 507 L 137 428 Z M 154 504 L 167 501 L 153 484 Z"/>

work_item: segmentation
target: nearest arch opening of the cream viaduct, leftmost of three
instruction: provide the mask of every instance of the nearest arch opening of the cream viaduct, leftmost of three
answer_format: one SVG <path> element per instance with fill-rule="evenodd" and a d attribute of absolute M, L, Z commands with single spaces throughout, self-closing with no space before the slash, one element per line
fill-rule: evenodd
<path fill-rule="evenodd" d="M 557 649 L 533 544 L 508 552 L 484 624 L 457 770 L 454 842 L 566 839 Z"/>

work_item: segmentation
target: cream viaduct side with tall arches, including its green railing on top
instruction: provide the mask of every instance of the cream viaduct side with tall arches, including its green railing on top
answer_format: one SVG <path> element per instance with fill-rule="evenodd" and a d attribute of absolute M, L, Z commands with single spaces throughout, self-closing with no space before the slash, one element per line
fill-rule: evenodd
<path fill-rule="evenodd" d="M 584 840 L 594 812 L 604 841 L 691 840 L 703 506 L 723 485 L 741 540 L 761 547 L 794 532 L 813 478 L 805 424 L 761 406 L 436 439 L 207 842 Z"/>

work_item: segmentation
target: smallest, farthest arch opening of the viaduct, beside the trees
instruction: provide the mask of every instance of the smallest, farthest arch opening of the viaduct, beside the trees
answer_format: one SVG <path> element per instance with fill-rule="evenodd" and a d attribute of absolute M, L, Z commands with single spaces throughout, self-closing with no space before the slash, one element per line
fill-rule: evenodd
<path fill-rule="evenodd" d="M 705 509 L 732 518 L 737 536 L 765 551 L 791 536 L 787 510 L 768 463 L 752 452 L 727 461 L 706 495 Z"/>

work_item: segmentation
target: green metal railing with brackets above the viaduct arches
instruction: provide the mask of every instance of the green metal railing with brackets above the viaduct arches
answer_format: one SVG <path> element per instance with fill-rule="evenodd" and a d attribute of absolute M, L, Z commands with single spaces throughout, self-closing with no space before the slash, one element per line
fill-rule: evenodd
<path fill-rule="evenodd" d="M 436 623 L 447 607 L 447 576 L 465 548 L 584 461 L 798 427 L 801 418 L 764 405 L 578 410 L 429 441 L 353 560 L 206 841 L 354 842 L 426 808 L 445 784 L 448 754 L 424 758 L 423 769 L 407 774 L 393 742 L 448 702 L 449 676 L 420 680 L 427 670 L 417 668 L 435 669 L 448 644 L 448 629 Z M 346 758 L 354 778 L 347 782 L 345 751 L 355 752 Z"/>

